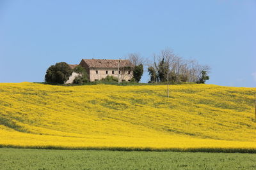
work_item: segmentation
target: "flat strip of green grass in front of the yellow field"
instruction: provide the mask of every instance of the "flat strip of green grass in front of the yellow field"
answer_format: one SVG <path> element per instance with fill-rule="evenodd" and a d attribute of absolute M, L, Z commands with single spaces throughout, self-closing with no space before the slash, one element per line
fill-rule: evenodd
<path fill-rule="evenodd" d="M 256 154 L 0 148 L 0 169 L 256 169 Z"/>

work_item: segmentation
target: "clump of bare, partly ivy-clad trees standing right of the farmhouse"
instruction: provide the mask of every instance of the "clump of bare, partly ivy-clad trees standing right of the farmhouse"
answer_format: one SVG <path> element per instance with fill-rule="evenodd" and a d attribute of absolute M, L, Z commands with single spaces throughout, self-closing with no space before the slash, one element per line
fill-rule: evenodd
<path fill-rule="evenodd" d="M 148 64 L 150 75 L 156 71 L 156 80 L 180 82 L 198 82 L 202 71 L 209 73 L 210 67 L 198 64 L 197 60 L 185 60 L 175 55 L 172 50 L 166 48 L 159 54 L 154 54 L 154 62 Z M 154 78 L 153 75 L 150 77 Z M 152 81 L 152 80 L 150 80 Z"/>

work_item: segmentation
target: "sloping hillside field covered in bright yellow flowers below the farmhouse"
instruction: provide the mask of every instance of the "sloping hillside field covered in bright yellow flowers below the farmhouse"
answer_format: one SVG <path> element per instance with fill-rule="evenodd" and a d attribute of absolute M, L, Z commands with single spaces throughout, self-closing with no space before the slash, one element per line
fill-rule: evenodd
<path fill-rule="evenodd" d="M 0 146 L 256 151 L 255 88 L 0 83 Z"/>

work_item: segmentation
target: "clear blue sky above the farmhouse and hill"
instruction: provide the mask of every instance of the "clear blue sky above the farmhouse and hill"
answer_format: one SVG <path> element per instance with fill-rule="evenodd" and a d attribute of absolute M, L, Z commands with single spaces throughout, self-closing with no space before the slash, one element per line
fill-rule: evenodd
<path fill-rule="evenodd" d="M 256 1 L 0 0 L 0 82 L 44 81 L 61 61 L 152 59 L 164 48 L 209 65 L 209 84 L 255 87 Z"/>

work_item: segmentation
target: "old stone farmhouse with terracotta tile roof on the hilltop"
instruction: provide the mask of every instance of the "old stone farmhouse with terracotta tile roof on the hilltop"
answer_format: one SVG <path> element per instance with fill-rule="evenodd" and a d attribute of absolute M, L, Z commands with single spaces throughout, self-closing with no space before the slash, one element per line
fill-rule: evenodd
<path fill-rule="evenodd" d="M 108 59 L 82 59 L 80 64 L 69 64 L 72 69 L 78 65 L 84 67 L 90 81 L 98 81 L 106 78 L 106 76 L 115 76 L 116 78 L 119 76 L 119 81 L 131 81 L 134 67 L 129 60 Z M 78 75 L 77 73 L 72 73 L 66 83 L 72 83 Z"/>

